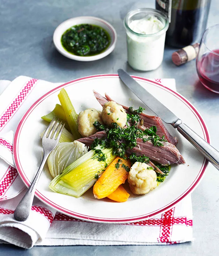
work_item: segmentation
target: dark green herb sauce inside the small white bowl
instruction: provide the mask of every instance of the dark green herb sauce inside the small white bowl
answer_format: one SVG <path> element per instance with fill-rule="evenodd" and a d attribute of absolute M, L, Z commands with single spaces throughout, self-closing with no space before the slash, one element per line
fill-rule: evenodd
<path fill-rule="evenodd" d="M 110 35 L 105 29 L 91 24 L 75 25 L 61 37 L 65 50 L 77 56 L 97 55 L 104 52 L 110 42 Z"/>

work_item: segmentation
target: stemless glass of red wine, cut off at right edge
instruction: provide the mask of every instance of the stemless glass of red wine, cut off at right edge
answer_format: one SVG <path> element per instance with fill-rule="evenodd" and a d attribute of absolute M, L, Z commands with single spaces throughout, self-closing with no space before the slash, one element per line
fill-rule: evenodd
<path fill-rule="evenodd" d="M 196 58 L 196 69 L 202 84 L 219 93 L 219 24 L 205 30 Z"/>

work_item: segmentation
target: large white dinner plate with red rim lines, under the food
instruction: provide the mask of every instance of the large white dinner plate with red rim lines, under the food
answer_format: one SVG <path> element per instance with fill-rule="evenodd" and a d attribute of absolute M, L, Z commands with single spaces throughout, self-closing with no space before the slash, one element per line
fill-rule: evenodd
<path fill-rule="evenodd" d="M 206 141 L 209 134 L 198 111 L 184 97 L 156 82 L 133 76 L 143 87 L 166 105 L 176 116 L 180 117 L 192 130 Z M 79 113 L 86 108 L 101 110 L 93 96 L 92 90 L 104 95 L 107 92 L 115 101 L 135 108 L 142 106 L 145 113 L 152 112 L 122 84 L 118 75 L 94 75 L 76 79 L 48 92 L 35 102 L 22 118 L 14 138 L 14 159 L 17 171 L 23 182 L 29 186 L 41 162 L 41 141 L 39 134 L 45 129 L 41 116 L 50 112 L 59 103 L 58 93 L 65 88 Z M 54 193 L 48 189 L 52 180 L 45 168 L 37 185 L 36 196 L 45 204 L 69 216 L 95 222 L 134 222 L 144 220 L 157 213 L 166 211 L 190 193 L 201 180 L 207 166 L 207 160 L 177 130 L 167 126 L 169 132 L 179 140 L 178 149 L 186 164 L 172 166 L 169 176 L 158 188 L 145 196 L 134 196 L 125 203 L 112 202 L 109 199 L 98 200 L 87 191 L 80 198 Z"/>

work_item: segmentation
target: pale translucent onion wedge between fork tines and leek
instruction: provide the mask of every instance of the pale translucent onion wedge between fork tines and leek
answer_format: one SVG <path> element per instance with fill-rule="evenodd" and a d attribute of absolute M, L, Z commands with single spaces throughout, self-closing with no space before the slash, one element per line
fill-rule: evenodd
<path fill-rule="evenodd" d="M 59 175 L 67 166 L 86 153 L 88 148 L 79 141 L 59 143 L 47 159 L 52 177 Z"/>

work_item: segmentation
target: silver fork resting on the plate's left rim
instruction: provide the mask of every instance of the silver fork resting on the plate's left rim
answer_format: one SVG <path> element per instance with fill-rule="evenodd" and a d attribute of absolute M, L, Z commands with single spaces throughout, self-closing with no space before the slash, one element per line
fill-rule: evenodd
<path fill-rule="evenodd" d="M 25 193 L 24 197 L 21 199 L 21 202 L 17 205 L 15 209 L 14 217 L 18 221 L 26 220 L 30 214 L 30 210 L 33 203 L 33 197 L 36 191 L 36 186 L 39 181 L 39 177 L 43 171 L 43 167 L 46 163 L 46 160 L 49 154 L 57 146 L 59 139 L 61 137 L 62 131 L 65 127 L 65 123 L 63 123 L 62 121 L 57 126 L 58 123 L 59 121 L 53 118 L 53 120 L 50 122 L 50 124 L 48 125 L 47 129 L 43 134 L 43 138 L 42 138 L 43 160 L 39 166 L 37 174 L 34 177 L 33 182 L 31 183 L 28 191 Z"/>

